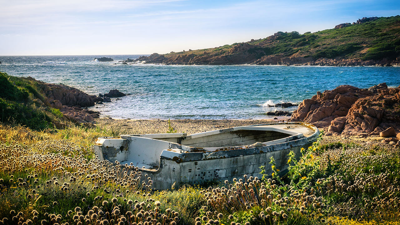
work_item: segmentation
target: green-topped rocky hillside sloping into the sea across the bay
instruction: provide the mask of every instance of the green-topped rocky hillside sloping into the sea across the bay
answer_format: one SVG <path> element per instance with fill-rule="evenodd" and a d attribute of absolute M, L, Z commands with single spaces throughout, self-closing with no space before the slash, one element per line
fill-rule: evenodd
<path fill-rule="evenodd" d="M 263 39 L 200 50 L 154 53 L 133 63 L 184 65 L 399 66 L 400 16 L 369 17 L 333 29 L 276 32 Z"/>

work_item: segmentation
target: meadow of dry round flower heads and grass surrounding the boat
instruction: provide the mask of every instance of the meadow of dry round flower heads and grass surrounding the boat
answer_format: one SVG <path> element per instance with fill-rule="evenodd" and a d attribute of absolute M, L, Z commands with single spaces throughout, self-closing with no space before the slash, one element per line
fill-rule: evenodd
<path fill-rule="evenodd" d="M 152 192 L 135 167 L 94 157 L 96 137 L 116 135 L 0 124 L 3 224 L 400 224 L 395 149 L 319 140 L 284 177 L 272 159 L 269 175 Z"/>

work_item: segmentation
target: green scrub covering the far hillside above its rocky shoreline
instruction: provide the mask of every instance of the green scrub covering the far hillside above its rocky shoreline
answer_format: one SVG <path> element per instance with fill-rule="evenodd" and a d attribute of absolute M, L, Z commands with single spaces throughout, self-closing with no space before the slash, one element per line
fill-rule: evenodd
<path fill-rule="evenodd" d="M 400 16 L 381 17 L 362 24 L 353 24 L 339 29 L 299 34 L 277 32 L 267 38 L 247 42 L 252 47 L 248 53 L 254 58 L 284 54 L 285 56 L 318 58 L 355 58 L 362 60 L 389 60 L 400 56 Z M 167 58 L 176 56 L 218 56 L 242 54 L 230 52 L 234 44 L 216 48 L 172 52 Z"/>

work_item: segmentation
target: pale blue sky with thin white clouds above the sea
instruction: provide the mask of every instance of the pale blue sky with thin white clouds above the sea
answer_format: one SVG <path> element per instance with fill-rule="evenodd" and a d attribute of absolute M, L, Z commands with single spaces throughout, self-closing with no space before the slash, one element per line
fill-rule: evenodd
<path fill-rule="evenodd" d="M 399 0 L 0 0 L 0 55 L 164 54 L 398 14 Z"/>

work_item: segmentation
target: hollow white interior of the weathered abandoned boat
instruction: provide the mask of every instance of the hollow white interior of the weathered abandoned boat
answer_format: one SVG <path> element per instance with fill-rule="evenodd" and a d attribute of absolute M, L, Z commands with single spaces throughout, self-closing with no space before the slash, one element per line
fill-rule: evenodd
<path fill-rule="evenodd" d="M 130 140 L 126 157 L 121 164 L 133 163 L 134 166 L 156 169 L 161 156 L 191 152 L 226 151 L 248 148 L 260 142 L 273 145 L 304 137 L 303 133 L 272 126 L 246 126 L 223 130 L 208 131 L 193 135 L 186 133 L 122 135 Z M 170 157 L 172 158 L 172 157 Z"/>

